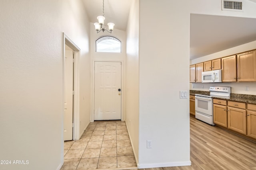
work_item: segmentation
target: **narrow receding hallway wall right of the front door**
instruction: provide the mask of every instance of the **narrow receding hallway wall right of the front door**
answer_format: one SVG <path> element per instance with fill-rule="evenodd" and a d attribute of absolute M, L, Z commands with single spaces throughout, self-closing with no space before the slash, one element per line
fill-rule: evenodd
<path fill-rule="evenodd" d="M 133 0 L 127 26 L 125 115 L 134 156 L 139 143 L 139 0 Z"/>

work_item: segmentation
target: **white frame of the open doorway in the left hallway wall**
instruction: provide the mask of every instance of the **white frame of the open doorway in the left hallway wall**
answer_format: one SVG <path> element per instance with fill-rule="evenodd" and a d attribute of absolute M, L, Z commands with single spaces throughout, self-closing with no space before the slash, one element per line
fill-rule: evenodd
<path fill-rule="evenodd" d="M 78 86 L 78 66 L 80 57 L 80 48 L 63 32 L 63 95 L 65 96 L 65 45 L 74 51 L 74 76 L 73 76 L 73 140 L 80 138 L 79 123 L 79 86 Z M 64 141 L 64 96 L 63 96 L 63 116 L 62 116 L 62 141 Z"/>

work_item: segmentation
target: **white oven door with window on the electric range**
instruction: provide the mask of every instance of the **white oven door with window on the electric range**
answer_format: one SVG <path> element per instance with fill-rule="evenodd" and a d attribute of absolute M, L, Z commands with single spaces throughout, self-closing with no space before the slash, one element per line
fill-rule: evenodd
<path fill-rule="evenodd" d="M 196 111 L 212 116 L 212 98 L 195 96 Z"/>

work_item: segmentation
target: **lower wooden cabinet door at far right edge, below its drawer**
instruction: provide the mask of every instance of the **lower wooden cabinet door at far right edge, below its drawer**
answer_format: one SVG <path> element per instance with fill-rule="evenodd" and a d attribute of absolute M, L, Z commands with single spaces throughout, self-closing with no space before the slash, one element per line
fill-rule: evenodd
<path fill-rule="evenodd" d="M 247 111 L 247 135 L 256 139 L 256 111 Z"/>

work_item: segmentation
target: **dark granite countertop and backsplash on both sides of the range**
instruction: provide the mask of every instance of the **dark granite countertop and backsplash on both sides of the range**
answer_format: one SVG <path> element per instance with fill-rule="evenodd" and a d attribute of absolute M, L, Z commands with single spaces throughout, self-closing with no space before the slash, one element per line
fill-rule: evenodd
<path fill-rule="evenodd" d="M 207 91 L 197 91 L 197 90 L 190 90 L 190 95 L 194 96 L 195 94 L 210 94 Z M 248 94 L 230 94 L 229 99 L 223 99 L 221 97 L 212 97 L 213 99 L 221 99 L 221 100 L 228 100 L 232 102 L 242 102 L 248 104 L 256 104 L 256 95 L 248 95 Z"/>

